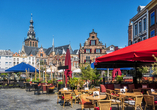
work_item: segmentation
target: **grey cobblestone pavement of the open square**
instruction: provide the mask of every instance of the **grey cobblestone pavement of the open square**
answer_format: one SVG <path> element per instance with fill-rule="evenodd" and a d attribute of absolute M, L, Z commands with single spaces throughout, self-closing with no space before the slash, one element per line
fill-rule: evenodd
<path fill-rule="evenodd" d="M 73 103 L 73 108 L 67 105 L 63 109 L 62 104 L 56 102 L 55 93 L 34 95 L 33 91 L 20 88 L 0 89 L 0 110 L 81 110 L 80 104 Z M 118 110 L 117 106 L 112 106 L 112 110 Z"/>

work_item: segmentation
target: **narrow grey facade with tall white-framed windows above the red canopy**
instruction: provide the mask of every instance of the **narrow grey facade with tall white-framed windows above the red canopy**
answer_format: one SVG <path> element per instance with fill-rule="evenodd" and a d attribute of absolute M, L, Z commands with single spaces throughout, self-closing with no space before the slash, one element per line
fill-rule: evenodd
<path fill-rule="evenodd" d="M 148 33 L 148 10 L 138 6 L 137 14 L 129 22 L 128 45 L 148 39 Z"/>

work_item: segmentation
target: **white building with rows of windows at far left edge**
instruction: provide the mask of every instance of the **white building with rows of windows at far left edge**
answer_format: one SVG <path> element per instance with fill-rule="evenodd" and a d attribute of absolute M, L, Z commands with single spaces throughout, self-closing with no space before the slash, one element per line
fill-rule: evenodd
<path fill-rule="evenodd" d="M 13 52 L 10 50 L 0 50 L 0 69 L 8 69 L 13 66 Z"/>

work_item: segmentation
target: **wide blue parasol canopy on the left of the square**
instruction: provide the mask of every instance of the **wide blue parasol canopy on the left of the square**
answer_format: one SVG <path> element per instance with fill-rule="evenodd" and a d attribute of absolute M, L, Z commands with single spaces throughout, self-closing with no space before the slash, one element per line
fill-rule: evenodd
<path fill-rule="evenodd" d="M 24 62 L 22 62 L 22 63 L 20 63 L 18 65 L 15 65 L 15 66 L 13 66 L 13 67 L 5 70 L 5 71 L 11 71 L 11 72 L 17 73 L 17 72 L 26 72 L 26 70 L 28 72 L 35 72 L 35 68 L 33 66 L 31 66 L 29 64 L 26 64 Z M 36 69 L 36 71 L 39 72 L 38 69 Z"/>

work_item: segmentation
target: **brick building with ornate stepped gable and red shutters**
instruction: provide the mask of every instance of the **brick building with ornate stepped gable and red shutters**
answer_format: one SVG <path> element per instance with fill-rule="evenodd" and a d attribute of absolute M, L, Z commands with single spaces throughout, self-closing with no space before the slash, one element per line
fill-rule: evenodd
<path fill-rule="evenodd" d="M 95 62 L 97 57 L 106 54 L 106 47 L 99 41 L 97 33 L 94 32 L 94 29 L 89 33 L 89 38 L 84 43 L 84 46 L 80 44 L 79 50 L 79 63 L 92 63 Z"/>

